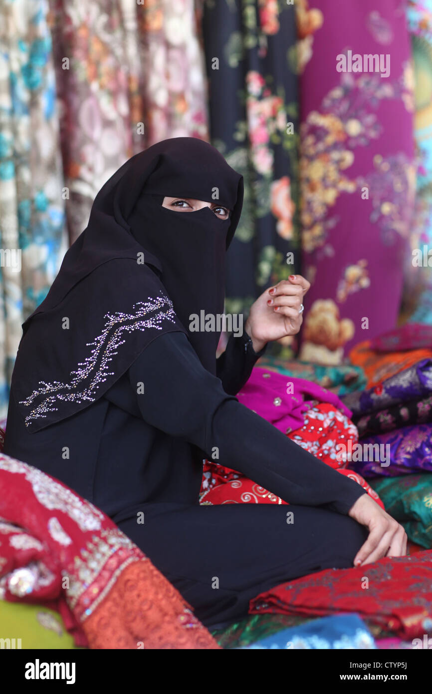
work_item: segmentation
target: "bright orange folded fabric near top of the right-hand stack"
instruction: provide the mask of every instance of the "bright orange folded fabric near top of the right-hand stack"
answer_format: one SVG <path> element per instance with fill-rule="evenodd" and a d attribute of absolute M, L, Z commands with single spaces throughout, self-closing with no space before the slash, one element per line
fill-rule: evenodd
<path fill-rule="evenodd" d="M 370 340 L 360 342 L 349 353 L 349 359 L 355 366 L 361 366 L 368 379 L 367 388 L 372 388 L 386 378 L 404 371 L 420 362 L 420 359 L 432 359 L 432 349 L 413 349 L 404 352 L 375 352 L 370 348 Z"/>

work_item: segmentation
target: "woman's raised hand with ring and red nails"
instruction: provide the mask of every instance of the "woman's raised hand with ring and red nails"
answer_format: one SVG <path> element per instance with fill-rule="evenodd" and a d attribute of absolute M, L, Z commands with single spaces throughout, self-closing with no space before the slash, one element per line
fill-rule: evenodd
<path fill-rule="evenodd" d="M 288 280 L 281 280 L 257 298 L 245 323 L 255 352 L 259 352 L 270 340 L 297 335 L 303 321 L 303 313 L 299 311 L 310 286 L 310 282 L 301 275 L 291 275 Z"/>

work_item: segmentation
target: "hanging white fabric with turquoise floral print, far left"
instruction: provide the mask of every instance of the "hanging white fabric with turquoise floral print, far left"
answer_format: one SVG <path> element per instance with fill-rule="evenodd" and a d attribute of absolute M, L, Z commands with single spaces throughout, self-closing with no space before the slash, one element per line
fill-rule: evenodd
<path fill-rule="evenodd" d="M 0 414 L 21 323 L 67 248 L 46 0 L 0 0 Z"/>

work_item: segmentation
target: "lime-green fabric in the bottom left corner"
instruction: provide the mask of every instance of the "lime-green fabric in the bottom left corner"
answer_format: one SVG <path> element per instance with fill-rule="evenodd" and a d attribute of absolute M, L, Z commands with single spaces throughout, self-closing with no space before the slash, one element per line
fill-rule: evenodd
<path fill-rule="evenodd" d="M 78 648 L 58 612 L 40 605 L 7 600 L 0 600 L 1 638 L 15 638 L 15 648 L 22 649 Z M 0 648 L 12 648 L 13 645 L 13 641 L 0 641 Z"/>

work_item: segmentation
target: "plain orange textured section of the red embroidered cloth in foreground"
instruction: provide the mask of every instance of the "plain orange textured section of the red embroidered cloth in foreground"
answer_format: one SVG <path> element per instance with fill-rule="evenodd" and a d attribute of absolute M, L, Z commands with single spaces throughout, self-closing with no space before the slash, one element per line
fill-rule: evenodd
<path fill-rule="evenodd" d="M 150 561 L 130 564 L 98 608 L 83 622 L 95 649 L 218 649 L 198 620 L 179 614 L 180 593 Z M 191 613 L 192 617 L 192 613 Z"/>

